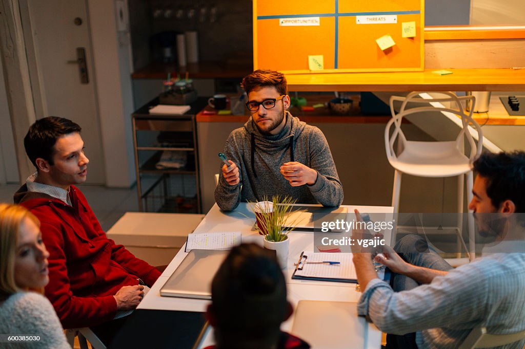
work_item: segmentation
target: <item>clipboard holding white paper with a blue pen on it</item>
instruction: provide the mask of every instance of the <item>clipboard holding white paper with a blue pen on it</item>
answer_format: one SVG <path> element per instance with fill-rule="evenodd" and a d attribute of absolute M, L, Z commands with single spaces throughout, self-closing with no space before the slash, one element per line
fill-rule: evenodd
<path fill-rule="evenodd" d="M 313 252 L 312 252 L 313 254 Z M 353 262 L 352 262 L 352 254 L 351 253 L 328 253 L 330 255 L 330 259 L 338 259 L 338 261 L 341 262 L 341 265 L 324 265 L 323 267 L 325 267 L 324 269 L 325 270 L 328 270 L 330 271 L 329 268 L 345 268 L 345 267 L 348 267 L 350 268 L 350 270 L 337 270 L 337 269 L 333 269 L 331 271 L 343 271 L 342 273 L 339 273 L 339 274 L 346 274 L 348 275 L 349 277 L 337 277 L 337 276 L 333 276 L 333 275 L 327 275 L 327 276 L 321 276 L 319 275 L 319 271 L 322 271 L 322 270 L 318 270 L 317 272 L 314 272 L 313 274 L 317 274 L 317 275 L 312 275 L 312 276 L 307 276 L 307 275 L 300 275 L 302 274 L 302 272 L 299 272 L 298 274 L 298 271 L 302 271 L 304 270 L 305 266 L 307 265 L 307 261 L 308 261 L 308 255 L 304 254 L 304 252 L 301 252 L 301 255 L 299 256 L 299 260 L 297 261 L 297 264 L 296 264 L 296 268 L 295 270 L 293 270 L 293 274 L 292 274 L 292 279 L 297 279 L 297 280 L 315 280 L 315 281 L 333 281 L 333 282 L 347 282 L 347 283 L 357 283 L 358 280 L 357 280 L 357 276 L 355 274 L 355 269 L 354 269 L 354 266 L 353 266 Z M 316 254 L 316 255 L 324 255 L 324 254 Z M 311 258 L 310 258 L 311 260 Z M 319 265 L 317 265 L 319 266 Z M 346 272 L 345 272 L 346 271 Z M 338 274 L 337 272 L 335 274 Z"/>

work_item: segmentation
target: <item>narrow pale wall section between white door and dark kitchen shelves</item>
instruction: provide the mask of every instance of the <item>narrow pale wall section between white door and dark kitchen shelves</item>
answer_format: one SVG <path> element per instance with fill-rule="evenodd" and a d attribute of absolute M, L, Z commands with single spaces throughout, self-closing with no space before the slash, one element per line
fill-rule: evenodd
<path fill-rule="evenodd" d="M 113 1 L 88 0 L 88 12 L 106 186 L 130 187 L 135 181 L 131 131 L 131 42 L 127 32 L 117 32 Z"/>

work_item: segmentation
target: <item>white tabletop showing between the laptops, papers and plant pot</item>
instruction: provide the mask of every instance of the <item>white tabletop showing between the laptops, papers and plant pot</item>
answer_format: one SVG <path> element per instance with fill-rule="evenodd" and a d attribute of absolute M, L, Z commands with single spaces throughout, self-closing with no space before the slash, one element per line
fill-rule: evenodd
<path fill-rule="evenodd" d="M 301 204 L 301 206 L 306 206 Z M 318 206 L 318 205 L 312 205 Z M 367 213 L 393 213 L 391 206 L 354 206 L 344 205 L 348 212 L 358 209 L 360 212 Z M 246 216 L 250 217 L 246 217 Z M 253 218 L 251 218 L 253 216 Z M 262 238 L 257 231 L 253 230 L 255 215 L 248 209 L 247 203 L 240 203 L 238 208 L 232 212 L 220 211 L 217 204 L 206 214 L 201 224 L 197 226 L 194 233 L 206 232 L 229 232 L 240 231 L 243 234 L 243 242 L 254 242 L 262 246 Z M 283 272 L 285 273 L 288 288 L 288 300 L 297 306 L 299 300 L 324 300 L 324 301 L 346 301 L 358 302 L 361 292 L 355 290 L 354 283 L 295 280 L 291 279 L 295 263 L 299 259 L 301 252 L 313 252 L 313 233 L 291 232 L 290 249 L 288 254 L 288 266 Z M 390 236 L 385 234 L 388 242 Z M 210 301 L 201 299 L 161 297 L 160 289 L 173 274 L 173 271 L 181 263 L 187 253 L 184 252 L 184 246 L 173 258 L 171 263 L 166 267 L 162 275 L 155 282 L 151 291 L 144 297 L 137 309 L 154 309 L 154 310 L 179 310 L 179 311 L 206 311 Z M 293 317 L 284 322 L 281 326 L 283 331 L 290 331 Z M 209 337 L 209 336 L 208 336 Z M 381 332 L 375 326 L 369 326 L 367 347 L 378 348 L 381 343 Z M 209 343 L 209 341 L 206 341 Z"/>

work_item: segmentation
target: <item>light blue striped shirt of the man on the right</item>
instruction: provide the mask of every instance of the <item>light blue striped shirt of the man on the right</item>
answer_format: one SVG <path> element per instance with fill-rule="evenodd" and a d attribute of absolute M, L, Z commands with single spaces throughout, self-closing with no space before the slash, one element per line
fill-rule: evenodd
<path fill-rule="evenodd" d="M 419 348 L 457 347 L 479 327 L 491 334 L 523 331 L 525 253 L 488 252 L 412 290 L 394 292 L 374 279 L 366 285 L 358 312 L 383 332 L 417 332 Z M 523 344 L 502 348 L 521 349 Z"/>

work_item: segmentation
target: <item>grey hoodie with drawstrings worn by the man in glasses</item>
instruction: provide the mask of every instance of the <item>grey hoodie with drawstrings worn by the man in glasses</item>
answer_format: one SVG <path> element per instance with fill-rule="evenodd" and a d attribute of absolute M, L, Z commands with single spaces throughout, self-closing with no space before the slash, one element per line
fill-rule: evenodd
<path fill-rule="evenodd" d="M 219 169 L 215 201 L 224 211 L 234 210 L 240 201 L 260 201 L 272 195 L 289 195 L 297 203 L 339 206 L 343 187 L 332 153 L 321 130 L 286 112 L 286 125 L 275 136 L 262 135 L 250 118 L 234 129 L 226 140 L 224 154 L 239 168 L 240 182 L 230 186 Z M 283 163 L 297 161 L 318 172 L 317 181 L 292 187 L 279 172 Z M 221 165 L 222 167 L 222 165 Z"/>

